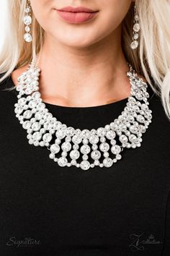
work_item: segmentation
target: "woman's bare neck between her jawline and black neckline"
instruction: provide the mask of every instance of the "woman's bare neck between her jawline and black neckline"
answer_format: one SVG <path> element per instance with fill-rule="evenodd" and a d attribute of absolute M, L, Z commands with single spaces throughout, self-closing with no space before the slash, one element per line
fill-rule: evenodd
<path fill-rule="evenodd" d="M 61 106 L 97 106 L 130 95 L 129 67 L 121 48 L 120 27 L 84 48 L 45 35 L 38 66 L 43 101 Z"/>

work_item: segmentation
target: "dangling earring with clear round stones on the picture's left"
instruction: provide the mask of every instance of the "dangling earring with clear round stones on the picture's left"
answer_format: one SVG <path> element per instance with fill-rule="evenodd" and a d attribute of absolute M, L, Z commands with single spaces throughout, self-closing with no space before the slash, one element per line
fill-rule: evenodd
<path fill-rule="evenodd" d="M 32 17 L 31 17 L 31 5 L 30 5 L 30 0 L 27 2 L 27 7 L 24 9 L 25 16 L 24 16 L 24 30 L 26 33 L 24 33 L 24 40 L 27 43 L 32 42 L 32 35 L 30 34 L 30 25 L 32 23 Z"/>

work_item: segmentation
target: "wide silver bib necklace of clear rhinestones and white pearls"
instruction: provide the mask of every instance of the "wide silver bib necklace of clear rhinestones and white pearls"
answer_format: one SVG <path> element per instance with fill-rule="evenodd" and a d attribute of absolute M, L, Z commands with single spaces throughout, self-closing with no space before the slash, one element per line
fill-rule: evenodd
<path fill-rule="evenodd" d="M 49 157 L 59 166 L 83 170 L 111 167 L 122 158 L 122 150 L 140 147 L 152 111 L 148 108 L 147 83 L 128 65 L 130 96 L 120 116 L 104 127 L 81 130 L 67 127 L 48 111 L 39 92 L 40 68 L 32 61 L 18 77 L 18 101 L 14 104 L 17 119 L 27 130 L 28 142 L 47 147 Z"/>

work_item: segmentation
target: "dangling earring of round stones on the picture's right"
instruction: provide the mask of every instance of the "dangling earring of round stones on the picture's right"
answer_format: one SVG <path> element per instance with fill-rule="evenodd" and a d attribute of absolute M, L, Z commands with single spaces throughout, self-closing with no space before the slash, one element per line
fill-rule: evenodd
<path fill-rule="evenodd" d="M 133 42 L 130 43 L 130 48 L 132 48 L 133 50 L 135 50 L 136 48 L 138 48 L 138 32 L 140 30 L 140 25 L 139 25 L 139 17 L 138 17 L 138 14 L 136 12 L 136 6 L 134 5 L 134 20 L 133 22 L 135 23 L 133 25 Z"/>

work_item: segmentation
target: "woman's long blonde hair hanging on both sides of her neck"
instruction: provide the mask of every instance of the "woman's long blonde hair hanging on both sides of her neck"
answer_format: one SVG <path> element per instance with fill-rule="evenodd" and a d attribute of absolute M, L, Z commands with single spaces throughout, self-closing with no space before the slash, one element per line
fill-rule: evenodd
<path fill-rule="evenodd" d="M 122 50 L 127 61 L 138 74 L 146 78 L 153 91 L 160 96 L 166 116 L 170 120 L 170 0 L 136 0 L 140 22 L 139 47 L 133 51 L 133 4 L 122 22 Z M 35 60 L 44 40 L 44 30 L 32 14 L 32 43 L 25 43 L 24 9 L 27 1 L 7 0 L 6 35 L 0 51 L 0 82 L 15 68 Z"/>

